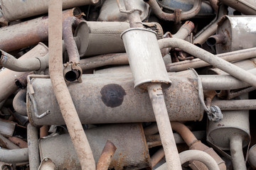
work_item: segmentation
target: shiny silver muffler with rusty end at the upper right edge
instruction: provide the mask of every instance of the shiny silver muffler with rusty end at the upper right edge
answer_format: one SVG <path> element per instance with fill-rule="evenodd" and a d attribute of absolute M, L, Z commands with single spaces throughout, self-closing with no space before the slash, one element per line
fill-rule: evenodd
<path fill-rule="evenodd" d="M 256 46 L 255 16 L 225 16 L 219 22 L 217 34 L 225 35 L 226 42 L 216 45 L 217 54 Z"/>

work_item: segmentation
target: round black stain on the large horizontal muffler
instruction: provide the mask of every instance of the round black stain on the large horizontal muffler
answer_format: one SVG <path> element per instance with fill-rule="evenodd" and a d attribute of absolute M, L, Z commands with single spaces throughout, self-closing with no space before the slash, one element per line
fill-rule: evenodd
<path fill-rule="evenodd" d="M 124 96 L 126 95 L 122 86 L 118 84 L 108 84 L 104 86 L 100 94 L 102 95 L 102 101 L 107 107 L 115 108 L 122 105 Z"/>

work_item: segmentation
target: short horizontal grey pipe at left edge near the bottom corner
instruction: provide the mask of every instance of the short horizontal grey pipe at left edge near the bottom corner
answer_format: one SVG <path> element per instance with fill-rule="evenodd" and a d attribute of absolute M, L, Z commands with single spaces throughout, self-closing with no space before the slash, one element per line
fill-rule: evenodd
<path fill-rule="evenodd" d="M 23 149 L 1 149 L 0 161 L 7 163 L 18 163 L 28 161 L 28 148 Z"/>

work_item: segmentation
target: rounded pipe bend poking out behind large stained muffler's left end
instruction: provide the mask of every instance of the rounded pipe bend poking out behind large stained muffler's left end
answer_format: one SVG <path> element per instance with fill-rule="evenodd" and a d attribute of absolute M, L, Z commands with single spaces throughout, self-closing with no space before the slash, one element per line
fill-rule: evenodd
<path fill-rule="evenodd" d="M 13 107 L 16 112 L 21 115 L 26 115 L 26 89 L 21 89 L 18 91 L 14 97 Z"/>

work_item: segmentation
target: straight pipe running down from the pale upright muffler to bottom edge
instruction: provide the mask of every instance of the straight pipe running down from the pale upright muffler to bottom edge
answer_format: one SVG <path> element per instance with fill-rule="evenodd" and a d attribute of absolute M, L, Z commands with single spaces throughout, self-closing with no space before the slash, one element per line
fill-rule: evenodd
<path fill-rule="evenodd" d="M 147 87 L 149 98 L 153 106 L 156 124 L 159 129 L 161 143 L 166 155 L 167 169 L 181 169 L 181 163 L 178 159 L 178 149 L 174 140 L 174 133 L 171 129 L 171 123 L 166 110 L 164 94 L 161 90 L 161 84 L 151 84 Z"/>

